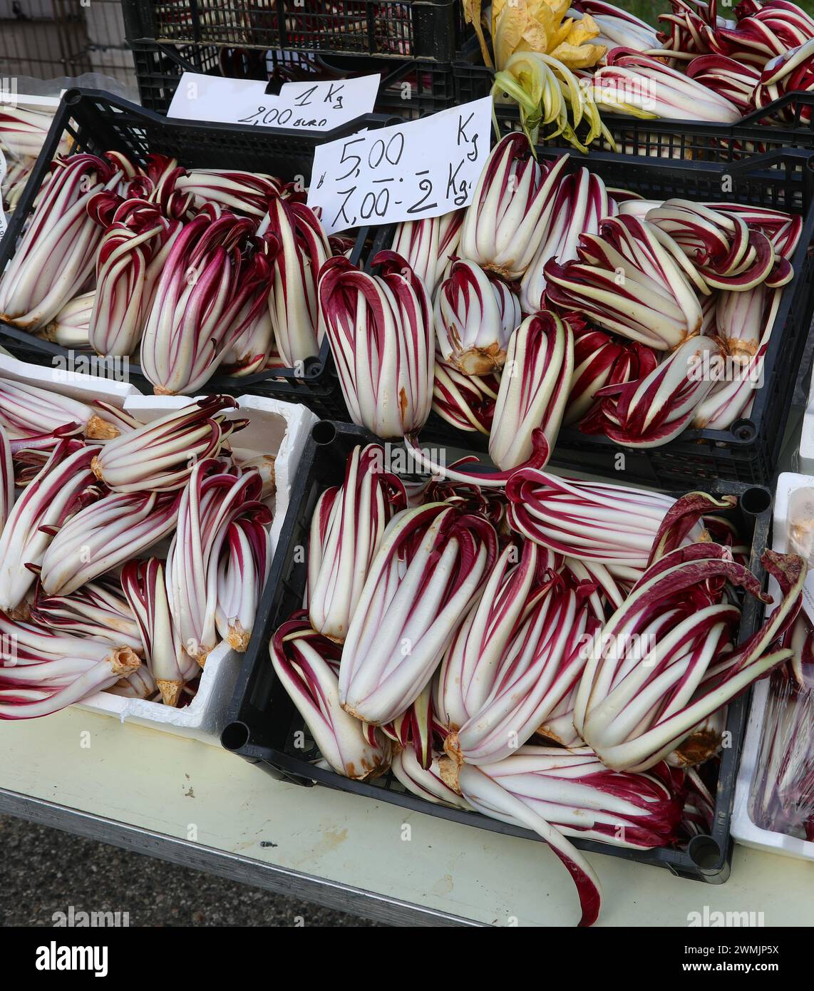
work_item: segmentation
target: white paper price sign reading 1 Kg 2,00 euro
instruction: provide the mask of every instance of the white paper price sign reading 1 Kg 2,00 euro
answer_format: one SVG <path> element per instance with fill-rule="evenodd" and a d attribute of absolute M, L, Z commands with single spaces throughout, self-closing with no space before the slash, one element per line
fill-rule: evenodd
<path fill-rule="evenodd" d="M 249 127 L 332 131 L 368 114 L 381 75 L 326 82 L 286 82 L 279 95 L 268 96 L 256 79 L 224 79 L 184 72 L 167 117 L 188 121 L 220 121 Z"/>

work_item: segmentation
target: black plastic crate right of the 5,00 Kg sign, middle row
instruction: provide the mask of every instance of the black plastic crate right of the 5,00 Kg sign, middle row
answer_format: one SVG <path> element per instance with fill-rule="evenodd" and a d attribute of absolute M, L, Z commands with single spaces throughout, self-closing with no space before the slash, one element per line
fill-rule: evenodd
<path fill-rule="evenodd" d="M 541 147 L 542 158 L 562 150 Z M 612 155 L 588 158 L 571 153 L 576 165 L 602 176 L 608 186 L 632 189 L 647 198 L 670 196 L 696 201 L 738 201 L 801 214 L 803 229 L 794 254 L 794 278 L 785 287 L 763 363 L 763 386 L 752 414 L 728 430 L 684 430 L 661 447 L 624 448 L 604 436 L 560 430 L 552 455 L 558 468 L 617 476 L 661 489 L 727 479 L 745 484 L 771 482 L 777 466 L 797 372 L 814 310 L 814 157 L 794 150 L 772 152 L 737 163 L 716 164 Z M 464 433 L 432 414 L 421 432 L 427 442 L 485 451 L 487 438 Z M 618 457 L 624 454 L 620 464 Z"/>

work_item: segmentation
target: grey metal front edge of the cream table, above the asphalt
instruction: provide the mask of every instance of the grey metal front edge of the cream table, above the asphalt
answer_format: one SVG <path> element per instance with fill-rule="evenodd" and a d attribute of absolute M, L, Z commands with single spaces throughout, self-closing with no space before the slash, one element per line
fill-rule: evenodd
<path fill-rule="evenodd" d="M 28 820 L 40 826 L 62 829 L 88 839 L 111 843 L 126 850 L 134 850 L 184 867 L 207 871 L 242 884 L 253 884 L 291 898 L 315 902 L 328 909 L 349 912 L 363 919 L 389 926 L 480 927 L 485 925 L 472 919 L 464 919 L 275 864 L 263 863 L 252 857 L 178 839 L 175 836 L 154 832 L 152 829 L 106 819 L 5 788 L 0 788 L 0 813 Z"/>

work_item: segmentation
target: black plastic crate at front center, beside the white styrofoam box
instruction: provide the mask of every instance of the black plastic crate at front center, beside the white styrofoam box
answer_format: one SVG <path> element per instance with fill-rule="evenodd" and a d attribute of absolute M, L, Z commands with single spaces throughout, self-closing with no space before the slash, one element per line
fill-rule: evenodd
<path fill-rule="evenodd" d="M 302 733 L 304 722 L 277 680 L 268 657 L 268 642 L 274 630 L 302 606 L 308 571 L 307 553 L 303 554 L 302 549 L 308 546 L 311 516 L 319 495 L 330 486 L 342 484 L 346 459 L 357 444 L 375 440 L 367 431 L 347 424 L 322 422 L 314 427 L 300 462 L 269 581 L 257 612 L 262 617 L 262 629 L 253 637 L 244 658 L 221 742 L 278 780 L 306 786 L 327 785 L 454 823 L 539 840 L 536 833 L 520 826 L 420 799 L 390 774 L 370 782 L 351 781 L 330 769 L 313 766 L 311 761 L 318 756 L 313 747 L 303 750 L 295 746 L 295 738 L 301 739 L 295 734 Z M 751 542 L 750 567 L 764 583 L 761 557 L 770 536 L 771 493 L 760 486 L 728 482 L 716 482 L 704 488 L 713 495 L 738 496 L 732 517 Z M 686 491 L 684 488 L 672 494 Z M 743 608 L 741 641 L 760 626 L 762 616 L 763 606 L 749 597 Z M 715 815 L 709 835 L 693 837 L 686 849 L 629 850 L 594 840 L 572 841 L 584 850 L 666 867 L 681 877 L 712 883 L 725 881 L 732 858 L 730 817 L 748 709 L 748 694 L 729 707 L 727 730 L 732 742 L 721 754 L 714 789 Z"/>

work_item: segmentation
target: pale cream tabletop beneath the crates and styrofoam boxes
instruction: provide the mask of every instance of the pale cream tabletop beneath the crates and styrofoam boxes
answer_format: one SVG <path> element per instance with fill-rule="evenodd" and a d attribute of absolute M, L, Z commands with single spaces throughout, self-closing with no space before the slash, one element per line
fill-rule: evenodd
<path fill-rule="evenodd" d="M 196 740 L 68 710 L 0 722 L 0 753 L 0 811 L 358 915 L 498 926 L 578 917 L 570 878 L 543 843 L 283 784 Z M 588 856 L 604 888 L 600 926 L 684 927 L 704 906 L 814 925 L 811 863 L 736 847 L 732 876 L 712 885 Z"/>

